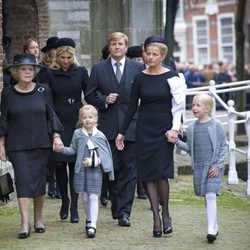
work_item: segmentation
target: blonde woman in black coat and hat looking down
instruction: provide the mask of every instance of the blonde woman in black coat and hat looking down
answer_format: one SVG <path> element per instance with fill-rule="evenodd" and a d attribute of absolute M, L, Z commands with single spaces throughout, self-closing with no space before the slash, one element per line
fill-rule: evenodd
<path fill-rule="evenodd" d="M 89 80 L 87 69 L 78 66 L 75 46 L 73 39 L 60 38 L 56 43 L 56 62 L 52 69 L 48 70 L 48 84 L 52 91 L 55 111 L 64 126 L 61 138 L 67 147 L 70 146 L 76 128 L 78 111 L 83 106 L 82 94 L 85 92 Z M 66 220 L 70 208 L 70 222 L 78 223 L 78 194 L 74 189 L 76 157 L 54 153 L 52 158 L 62 198 L 60 218 Z M 68 196 L 68 184 L 70 198 Z"/>

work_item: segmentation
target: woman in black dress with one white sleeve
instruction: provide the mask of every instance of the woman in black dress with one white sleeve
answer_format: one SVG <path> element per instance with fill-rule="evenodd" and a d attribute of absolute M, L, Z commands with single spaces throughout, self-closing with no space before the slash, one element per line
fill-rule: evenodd
<path fill-rule="evenodd" d="M 173 149 L 185 110 L 186 84 L 183 78 L 162 65 L 167 46 L 164 38 L 155 35 L 144 43 L 148 69 L 137 74 L 131 91 L 131 104 L 117 136 L 118 149 L 124 148 L 126 129 L 137 109 L 136 164 L 138 180 L 147 185 L 154 219 L 153 236 L 172 232 L 169 215 L 169 178 L 174 177 Z M 140 104 L 138 107 L 138 103 Z M 168 135 L 168 139 L 167 139 Z M 162 220 L 159 215 L 162 205 Z"/>

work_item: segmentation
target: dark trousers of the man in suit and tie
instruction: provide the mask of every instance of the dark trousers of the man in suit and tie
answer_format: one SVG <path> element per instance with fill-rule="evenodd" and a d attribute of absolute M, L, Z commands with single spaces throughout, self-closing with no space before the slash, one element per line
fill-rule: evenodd
<path fill-rule="evenodd" d="M 113 155 L 115 180 L 110 183 L 111 212 L 114 219 L 123 215 L 130 217 L 135 195 L 137 168 L 135 143 L 125 141 L 119 151 L 115 141 L 109 141 Z"/>

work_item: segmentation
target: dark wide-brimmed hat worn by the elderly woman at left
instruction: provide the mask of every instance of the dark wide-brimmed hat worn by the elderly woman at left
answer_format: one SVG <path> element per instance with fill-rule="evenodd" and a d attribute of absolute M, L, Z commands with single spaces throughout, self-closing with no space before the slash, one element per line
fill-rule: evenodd
<path fill-rule="evenodd" d="M 46 69 L 44 65 L 36 62 L 36 57 L 33 54 L 22 53 L 14 56 L 13 64 L 6 67 L 6 70 L 22 65 L 32 65 L 40 69 Z"/>

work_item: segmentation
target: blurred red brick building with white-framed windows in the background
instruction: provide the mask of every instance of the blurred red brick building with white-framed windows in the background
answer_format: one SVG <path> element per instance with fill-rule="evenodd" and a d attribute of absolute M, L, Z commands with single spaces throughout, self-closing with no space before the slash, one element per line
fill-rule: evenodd
<path fill-rule="evenodd" d="M 175 25 L 175 57 L 196 65 L 228 60 L 235 64 L 237 0 L 180 0 Z M 245 62 L 250 62 L 250 1 L 246 1 Z"/>

